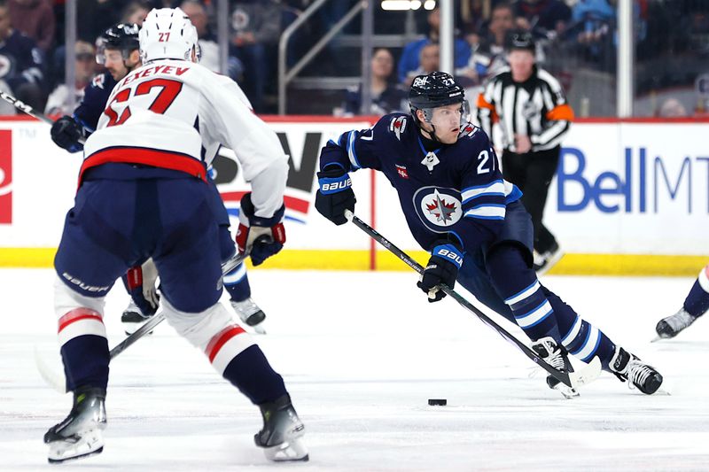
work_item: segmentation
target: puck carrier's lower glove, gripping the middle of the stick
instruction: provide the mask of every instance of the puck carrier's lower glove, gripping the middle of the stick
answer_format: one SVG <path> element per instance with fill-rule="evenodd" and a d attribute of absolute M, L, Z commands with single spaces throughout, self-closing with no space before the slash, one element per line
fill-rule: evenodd
<path fill-rule="evenodd" d="M 457 240 L 453 241 L 454 238 L 440 239 L 433 244 L 431 259 L 417 282 L 417 287 L 428 294 L 431 303 L 446 296 L 440 290 L 441 283 L 448 285 L 449 289 L 456 285 L 458 269 L 463 266 L 463 250 Z"/>

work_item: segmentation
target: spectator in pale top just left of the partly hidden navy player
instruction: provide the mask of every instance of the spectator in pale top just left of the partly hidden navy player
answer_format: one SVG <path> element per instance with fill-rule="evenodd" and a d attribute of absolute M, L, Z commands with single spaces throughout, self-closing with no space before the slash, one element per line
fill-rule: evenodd
<path fill-rule="evenodd" d="M 76 104 L 82 101 L 84 88 L 89 85 L 96 72 L 96 50 L 90 43 L 77 41 L 74 53 L 76 56 L 74 90 L 70 91 L 66 83 L 58 84 L 47 98 L 47 105 L 44 107 L 44 113 L 48 115 L 72 114 Z M 74 103 L 71 94 L 74 94 Z"/>

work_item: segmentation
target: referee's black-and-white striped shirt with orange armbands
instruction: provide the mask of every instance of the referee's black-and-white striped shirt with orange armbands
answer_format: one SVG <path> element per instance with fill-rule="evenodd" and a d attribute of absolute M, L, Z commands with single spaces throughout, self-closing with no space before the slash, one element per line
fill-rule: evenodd
<path fill-rule="evenodd" d="M 500 124 L 506 151 L 516 152 L 515 135 L 528 135 L 531 151 L 544 151 L 561 143 L 573 121 L 573 110 L 559 81 L 544 69 L 534 66 L 529 79 L 515 82 L 507 67 L 479 95 L 478 120 L 491 139 L 493 125 Z"/>

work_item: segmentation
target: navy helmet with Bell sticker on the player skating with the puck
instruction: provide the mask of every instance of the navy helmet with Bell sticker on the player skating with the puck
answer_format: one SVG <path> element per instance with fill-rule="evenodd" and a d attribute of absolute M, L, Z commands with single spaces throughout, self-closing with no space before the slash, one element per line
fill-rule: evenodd
<path fill-rule="evenodd" d="M 465 90 L 450 74 L 435 71 L 427 75 L 417 75 L 409 90 L 409 109 L 418 124 L 417 110 L 422 110 L 425 120 L 431 122 L 432 111 L 439 106 L 461 104 L 461 125 L 468 119 L 468 102 Z"/>

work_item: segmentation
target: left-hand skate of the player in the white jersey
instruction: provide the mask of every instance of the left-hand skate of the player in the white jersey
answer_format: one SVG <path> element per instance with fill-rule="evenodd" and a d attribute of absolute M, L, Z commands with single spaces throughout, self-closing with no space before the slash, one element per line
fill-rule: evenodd
<path fill-rule="evenodd" d="M 44 434 L 44 443 L 50 446 L 48 460 L 51 464 L 58 464 L 101 453 L 104 450 L 103 429 L 105 390 L 76 389 L 72 411 L 63 422 Z"/>

